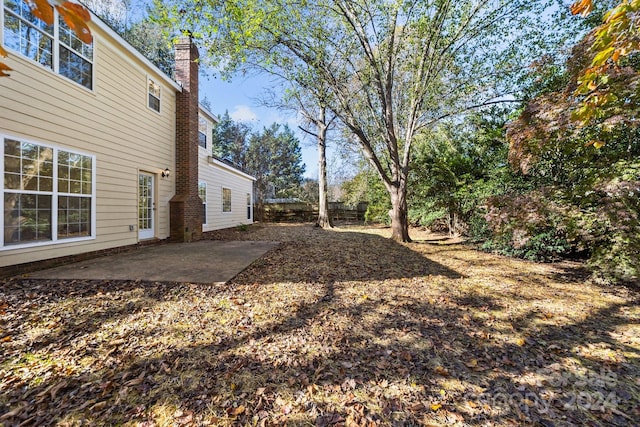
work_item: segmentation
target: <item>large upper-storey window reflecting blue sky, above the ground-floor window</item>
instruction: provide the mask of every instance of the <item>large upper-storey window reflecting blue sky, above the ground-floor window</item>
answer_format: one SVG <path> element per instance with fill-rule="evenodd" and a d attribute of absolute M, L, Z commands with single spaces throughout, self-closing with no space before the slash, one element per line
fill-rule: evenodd
<path fill-rule="evenodd" d="M 52 11 L 56 16 L 57 12 Z M 93 88 L 93 44 L 83 43 L 57 16 L 34 17 L 23 0 L 4 0 L 4 45 L 82 86 Z"/>

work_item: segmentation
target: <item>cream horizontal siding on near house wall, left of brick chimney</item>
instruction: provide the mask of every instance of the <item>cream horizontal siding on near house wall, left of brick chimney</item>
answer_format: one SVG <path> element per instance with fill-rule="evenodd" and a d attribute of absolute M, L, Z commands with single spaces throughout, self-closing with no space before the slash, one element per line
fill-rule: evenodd
<path fill-rule="evenodd" d="M 107 32 L 92 32 L 93 91 L 9 52 L 14 71 L 0 78 L 0 134 L 95 155 L 95 239 L 0 248 L 0 267 L 135 244 L 139 171 L 156 176 L 156 237 L 169 236 L 175 185 L 160 171 L 175 170 L 176 89 Z M 160 114 L 147 108 L 147 76 L 162 85 Z"/>

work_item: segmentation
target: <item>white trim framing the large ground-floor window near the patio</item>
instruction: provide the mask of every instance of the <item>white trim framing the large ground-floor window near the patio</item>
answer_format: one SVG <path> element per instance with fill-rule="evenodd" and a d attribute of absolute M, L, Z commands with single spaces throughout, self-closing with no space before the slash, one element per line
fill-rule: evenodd
<path fill-rule="evenodd" d="M 18 243 L 6 246 L 4 243 L 4 140 L 5 138 L 14 139 L 20 142 L 26 142 L 30 144 L 36 144 L 43 147 L 49 147 L 53 149 L 54 158 L 56 162 L 54 163 L 53 168 L 53 190 L 51 191 L 51 240 L 39 241 L 39 242 L 31 242 L 31 243 Z M 39 246 L 51 246 L 51 245 L 62 245 L 66 243 L 74 243 L 74 242 L 82 242 L 87 240 L 95 240 L 96 239 L 96 156 L 93 154 L 88 154 L 82 151 L 78 151 L 72 148 L 65 148 L 63 146 L 49 144 L 46 142 L 35 141 L 28 138 L 22 138 L 16 135 L 10 134 L 2 134 L 0 133 L 0 177 L 2 177 L 2 188 L 0 192 L 2 193 L 2 197 L 0 198 L 0 206 L 2 207 L 2 214 L 0 214 L 0 230 L 2 233 L 0 234 L 0 252 L 3 251 L 12 251 L 16 249 L 25 249 L 25 248 L 35 248 Z M 82 156 L 91 157 L 91 235 L 83 236 L 83 237 L 71 237 L 68 239 L 58 239 L 58 151 L 67 151 L 74 154 L 79 154 Z"/>

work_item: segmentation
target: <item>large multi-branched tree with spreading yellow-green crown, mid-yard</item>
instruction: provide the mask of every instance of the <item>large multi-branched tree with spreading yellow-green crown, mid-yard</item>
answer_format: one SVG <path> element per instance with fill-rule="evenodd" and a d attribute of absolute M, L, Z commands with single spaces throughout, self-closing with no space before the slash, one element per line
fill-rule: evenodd
<path fill-rule="evenodd" d="M 170 0 L 168 24 L 190 28 L 227 70 L 258 65 L 330 95 L 389 193 L 392 238 L 408 241 L 407 182 L 417 135 L 504 102 L 534 40 L 550 38 L 530 0 Z M 173 13 L 171 13 L 173 12 Z M 527 41 L 527 43 L 524 43 Z"/>

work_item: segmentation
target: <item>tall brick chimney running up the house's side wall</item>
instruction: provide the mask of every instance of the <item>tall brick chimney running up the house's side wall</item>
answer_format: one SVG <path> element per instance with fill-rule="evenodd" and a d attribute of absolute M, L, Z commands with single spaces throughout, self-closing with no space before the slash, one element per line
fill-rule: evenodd
<path fill-rule="evenodd" d="M 202 238 L 202 200 L 198 196 L 198 48 L 190 37 L 175 45 L 176 194 L 169 201 L 170 239 L 191 242 Z"/>

